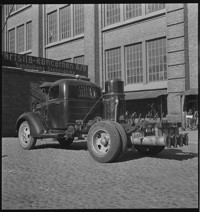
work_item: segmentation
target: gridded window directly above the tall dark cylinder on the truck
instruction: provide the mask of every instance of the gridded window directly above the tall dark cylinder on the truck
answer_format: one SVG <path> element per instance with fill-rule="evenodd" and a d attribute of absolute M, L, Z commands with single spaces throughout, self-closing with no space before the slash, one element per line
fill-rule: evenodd
<path fill-rule="evenodd" d="M 121 49 L 106 51 L 106 71 L 108 79 L 121 79 Z"/>

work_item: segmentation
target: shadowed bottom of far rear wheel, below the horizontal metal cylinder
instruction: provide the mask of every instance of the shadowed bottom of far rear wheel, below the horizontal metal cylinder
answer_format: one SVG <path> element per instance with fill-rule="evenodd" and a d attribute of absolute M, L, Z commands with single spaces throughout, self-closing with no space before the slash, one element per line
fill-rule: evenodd
<path fill-rule="evenodd" d="M 142 146 L 134 145 L 138 152 L 146 156 L 154 156 L 162 152 L 165 149 L 165 146 Z"/>

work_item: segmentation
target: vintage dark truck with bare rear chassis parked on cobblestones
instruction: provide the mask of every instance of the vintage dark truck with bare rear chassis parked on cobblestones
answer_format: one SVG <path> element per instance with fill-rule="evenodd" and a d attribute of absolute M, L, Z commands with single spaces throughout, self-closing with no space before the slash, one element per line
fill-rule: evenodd
<path fill-rule="evenodd" d="M 188 145 L 188 135 L 179 134 L 176 123 L 128 123 L 121 80 L 106 81 L 104 94 L 99 86 L 80 77 L 55 81 L 45 89 L 46 101 L 23 113 L 16 122 L 24 149 L 33 148 L 37 139 L 54 138 L 67 147 L 74 137 L 87 137 L 90 155 L 106 163 L 121 158 L 131 145 L 147 156 L 165 147 Z"/>

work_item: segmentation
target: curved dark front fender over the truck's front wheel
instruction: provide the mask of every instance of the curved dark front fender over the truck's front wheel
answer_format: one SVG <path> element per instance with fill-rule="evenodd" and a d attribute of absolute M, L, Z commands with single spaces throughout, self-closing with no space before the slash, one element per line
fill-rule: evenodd
<path fill-rule="evenodd" d="M 44 131 L 48 130 L 44 119 L 39 115 L 38 112 L 27 112 L 23 113 L 16 122 L 16 131 L 18 133 L 19 127 L 23 121 L 27 121 L 30 126 L 30 133 L 32 137 L 40 137 Z"/>

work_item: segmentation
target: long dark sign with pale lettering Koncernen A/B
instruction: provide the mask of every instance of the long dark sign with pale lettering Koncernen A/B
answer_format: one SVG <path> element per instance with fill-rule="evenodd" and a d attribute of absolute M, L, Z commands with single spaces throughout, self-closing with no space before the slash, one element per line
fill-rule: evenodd
<path fill-rule="evenodd" d="M 41 72 L 56 72 L 88 77 L 88 66 L 75 63 L 50 60 L 42 57 L 2 52 L 2 66 L 32 69 Z"/>

